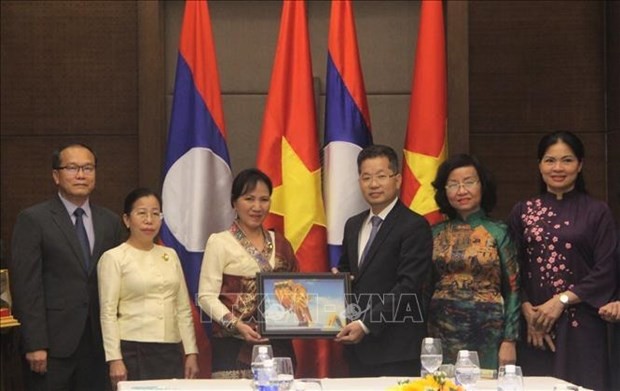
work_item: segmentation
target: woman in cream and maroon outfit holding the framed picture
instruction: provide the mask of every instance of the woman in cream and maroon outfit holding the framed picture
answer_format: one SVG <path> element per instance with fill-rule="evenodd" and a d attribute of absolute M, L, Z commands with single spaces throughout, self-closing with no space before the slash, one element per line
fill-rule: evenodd
<path fill-rule="evenodd" d="M 291 244 L 263 227 L 271 192 L 271 180 L 262 171 L 240 172 L 231 194 L 237 218 L 229 229 L 207 241 L 198 301 L 214 320 L 213 378 L 251 378 L 252 346 L 267 342 L 256 328 L 256 273 L 298 271 Z M 269 343 L 274 356 L 294 359 L 290 340 Z"/>

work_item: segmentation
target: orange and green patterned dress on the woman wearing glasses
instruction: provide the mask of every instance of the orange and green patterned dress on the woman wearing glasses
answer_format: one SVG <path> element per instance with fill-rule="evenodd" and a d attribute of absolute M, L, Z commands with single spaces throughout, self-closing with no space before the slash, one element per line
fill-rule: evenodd
<path fill-rule="evenodd" d="M 433 265 L 428 329 L 442 340 L 444 363 L 476 350 L 483 368 L 496 369 L 499 345 L 519 330 L 519 270 L 506 225 L 482 210 L 435 225 Z"/>

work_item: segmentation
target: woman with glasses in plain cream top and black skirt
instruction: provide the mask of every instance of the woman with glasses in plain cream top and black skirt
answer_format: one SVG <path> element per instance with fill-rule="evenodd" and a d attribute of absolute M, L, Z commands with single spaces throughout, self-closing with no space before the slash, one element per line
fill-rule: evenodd
<path fill-rule="evenodd" d="M 176 252 L 154 243 L 161 199 L 138 188 L 125 198 L 129 239 L 97 267 L 101 331 L 110 379 L 195 378 L 198 348 L 189 294 Z"/>

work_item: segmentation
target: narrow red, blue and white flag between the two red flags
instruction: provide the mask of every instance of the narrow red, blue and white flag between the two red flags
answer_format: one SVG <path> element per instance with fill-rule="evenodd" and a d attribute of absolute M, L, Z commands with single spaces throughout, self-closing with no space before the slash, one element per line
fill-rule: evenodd
<path fill-rule="evenodd" d="M 324 199 L 331 266 L 342 253 L 347 219 L 365 209 L 357 155 L 372 144 L 370 115 L 349 0 L 332 1 L 325 94 Z"/>

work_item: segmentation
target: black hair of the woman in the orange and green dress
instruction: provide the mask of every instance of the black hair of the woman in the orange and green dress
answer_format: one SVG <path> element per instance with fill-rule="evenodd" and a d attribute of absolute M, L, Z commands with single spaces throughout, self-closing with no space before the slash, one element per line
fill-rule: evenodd
<path fill-rule="evenodd" d="M 456 209 L 454 209 L 452 205 L 450 205 L 450 201 L 448 201 L 446 184 L 448 183 L 450 173 L 461 167 L 474 167 L 474 169 L 476 169 L 478 179 L 480 180 L 482 195 L 480 207 L 486 213 L 490 213 L 497 204 L 497 186 L 495 185 L 495 179 L 491 172 L 487 170 L 478 159 L 466 154 L 458 154 L 450 157 L 441 163 L 437 169 L 437 176 L 433 181 L 433 187 L 435 188 L 435 202 L 439 206 L 439 211 L 451 219 L 458 215 Z"/>

